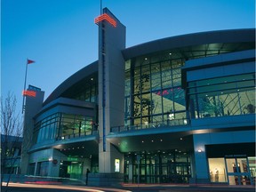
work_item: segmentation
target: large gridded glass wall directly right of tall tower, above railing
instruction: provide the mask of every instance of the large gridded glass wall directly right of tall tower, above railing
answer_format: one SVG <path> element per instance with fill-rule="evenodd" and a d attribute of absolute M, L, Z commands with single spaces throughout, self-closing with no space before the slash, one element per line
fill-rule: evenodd
<path fill-rule="evenodd" d="M 163 59 L 163 60 L 162 60 Z M 186 118 L 181 67 L 185 60 L 171 53 L 127 60 L 125 68 L 125 125 L 166 124 Z"/>

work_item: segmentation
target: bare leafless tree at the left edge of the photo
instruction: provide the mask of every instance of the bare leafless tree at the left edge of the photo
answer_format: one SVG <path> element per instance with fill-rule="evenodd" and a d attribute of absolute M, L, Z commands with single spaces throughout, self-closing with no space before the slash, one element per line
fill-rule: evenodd
<path fill-rule="evenodd" d="M 16 97 L 10 92 L 5 99 L 1 98 L 1 187 L 3 173 L 9 173 L 6 184 L 8 187 L 14 164 L 20 158 L 23 124 L 20 114 L 16 113 L 16 104 Z"/>

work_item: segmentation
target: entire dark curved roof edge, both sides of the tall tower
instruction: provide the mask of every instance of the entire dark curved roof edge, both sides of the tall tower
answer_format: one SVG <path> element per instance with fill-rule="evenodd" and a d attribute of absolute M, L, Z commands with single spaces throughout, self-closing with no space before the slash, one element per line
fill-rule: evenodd
<path fill-rule="evenodd" d="M 172 49 L 185 49 L 185 47 L 198 46 L 202 44 L 226 44 L 226 43 L 251 43 L 255 45 L 255 28 L 230 29 L 210 32 L 200 32 L 182 36 L 171 36 L 158 39 L 145 44 L 138 44 L 122 51 L 124 60 L 129 60 L 138 56 L 153 52 L 163 52 Z M 254 47 L 255 48 L 255 47 Z M 246 49 L 246 48 L 244 48 Z M 185 54 L 184 54 L 185 55 Z M 56 100 L 67 92 L 74 85 L 82 84 L 83 81 L 98 72 L 98 60 L 77 71 L 60 84 L 52 94 L 44 101 L 44 105 L 52 100 Z"/>

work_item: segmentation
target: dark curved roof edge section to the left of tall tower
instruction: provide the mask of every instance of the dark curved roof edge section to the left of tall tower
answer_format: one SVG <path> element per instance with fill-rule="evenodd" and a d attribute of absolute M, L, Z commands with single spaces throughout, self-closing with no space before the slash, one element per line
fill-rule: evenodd
<path fill-rule="evenodd" d="M 92 62 L 90 65 L 78 70 L 72 76 L 69 76 L 63 83 L 61 83 L 44 101 L 44 106 L 50 103 L 52 100 L 56 100 L 60 95 L 67 91 L 69 87 L 83 80 L 84 77 L 91 76 L 93 73 L 98 72 L 98 60 Z"/>

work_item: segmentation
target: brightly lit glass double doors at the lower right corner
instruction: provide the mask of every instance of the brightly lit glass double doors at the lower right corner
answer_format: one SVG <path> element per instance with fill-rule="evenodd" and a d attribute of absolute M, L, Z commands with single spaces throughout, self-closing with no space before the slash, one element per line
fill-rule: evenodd
<path fill-rule="evenodd" d="M 226 158 L 229 185 L 252 185 L 247 157 Z"/>

